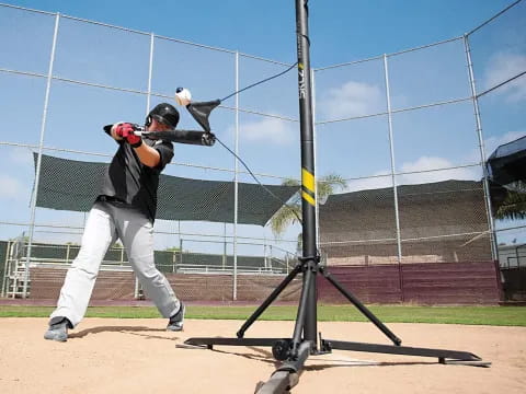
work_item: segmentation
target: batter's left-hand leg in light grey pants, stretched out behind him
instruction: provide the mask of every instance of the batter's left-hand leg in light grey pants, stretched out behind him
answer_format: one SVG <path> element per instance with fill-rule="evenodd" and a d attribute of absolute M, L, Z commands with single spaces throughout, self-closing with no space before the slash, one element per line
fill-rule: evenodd
<path fill-rule="evenodd" d="M 115 240 L 115 225 L 110 216 L 107 204 L 98 202 L 89 213 L 79 254 L 66 275 L 57 308 L 50 315 L 50 326 L 64 326 L 66 323 L 66 327 L 72 328 L 82 320 L 95 285 L 101 262 Z M 65 318 L 66 322 L 64 322 Z M 47 338 L 47 336 L 53 335 L 46 333 L 46 339 L 61 340 L 60 338 Z M 64 337 L 64 335 L 60 337 Z"/>

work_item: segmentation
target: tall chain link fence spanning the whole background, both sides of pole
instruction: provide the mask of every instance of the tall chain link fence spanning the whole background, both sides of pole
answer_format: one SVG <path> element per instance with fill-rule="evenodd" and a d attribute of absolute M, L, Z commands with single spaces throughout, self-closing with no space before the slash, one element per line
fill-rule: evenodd
<path fill-rule="evenodd" d="M 319 206 L 320 252 L 365 301 L 498 299 L 493 262 L 515 267 L 508 251 L 526 243 L 525 227 L 495 219 L 484 162 L 496 146 L 526 132 L 525 14 L 517 1 L 464 36 L 315 69 L 317 175 L 346 183 Z M 4 297 L 56 298 L 81 241 L 84 212 L 36 207 L 43 154 L 108 162 L 115 146 L 102 125 L 142 123 L 179 85 L 207 101 L 290 67 L 7 4 L 0 22 L 0 163 L 9 170 L 0 176 Z M 297 112 L 291 72 L 226 101 L 210 120 L 263 183 L 279 185 L 299 178 Z M 180 127 L 196 126 L 182 114 Z M 276 237 L 270 225 L 239 224 L 238 185 L 254 179 L 218 147 L 175 146 L 163 173 L 235 185 L 229 222 L 156 221 L 156 264 L 180 297 L 266 297 L 296 264 L 299 225 Z M 12 245 L 21 242 L 24 253 L 15 253 Z M 95 298 L 141 297 L 122 247 L 111 248 L 105 263 Z M 121 285 L 104 281 L 106 271 L 107 278 L 118 271 Z M 283 299 L 296 299 L 298 288 L 294 282 Z M 319 296 L 341 301 L 321 285 Z"/>

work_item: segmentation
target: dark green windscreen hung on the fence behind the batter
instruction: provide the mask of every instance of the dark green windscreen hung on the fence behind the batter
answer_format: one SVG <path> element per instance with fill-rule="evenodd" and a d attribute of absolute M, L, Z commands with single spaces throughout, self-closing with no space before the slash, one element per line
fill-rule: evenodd
<path fill-rule="evenodd" d="M 35 165 L 37 155 L 35 153 Z M 107 164 L 42 157 L 37 207 L 89 211 Z M 240 183 L 238 222 L 264 225 L 297 190 L 293 186 Z M 157 218 L 171 220 L 233 221 L 232 182 L 187 179 L 160 175 Z"/>

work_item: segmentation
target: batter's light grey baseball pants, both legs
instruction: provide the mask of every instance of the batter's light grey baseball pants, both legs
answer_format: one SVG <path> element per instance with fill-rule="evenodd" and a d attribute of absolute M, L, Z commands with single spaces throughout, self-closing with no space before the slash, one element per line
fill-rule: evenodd
<path fill-rule="evenodd" d="M 57 309 L 50 317 L 67 317 L 73 327 L 85 314 L 102 259 L 118 239 L 129 263 L 163 317 L 179 311 L 180 301 L 153 263 L 153 225 L 145 215 L 119 202 L 95 202 L 82 235 L 77 258 L 68 269 Z"/>

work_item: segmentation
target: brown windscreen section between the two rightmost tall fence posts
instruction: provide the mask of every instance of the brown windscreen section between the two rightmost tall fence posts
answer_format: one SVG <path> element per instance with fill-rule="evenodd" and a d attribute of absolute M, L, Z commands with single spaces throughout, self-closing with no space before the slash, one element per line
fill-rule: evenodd
<path fill-rule="evenodd" d="M 490 262 L 481 182 L 398 187 L 402 263 Z"/>

